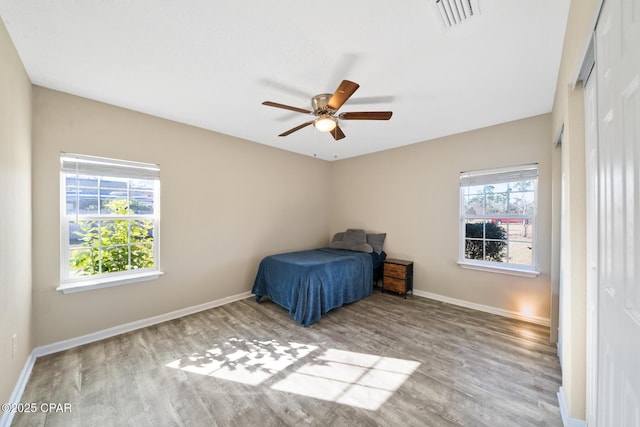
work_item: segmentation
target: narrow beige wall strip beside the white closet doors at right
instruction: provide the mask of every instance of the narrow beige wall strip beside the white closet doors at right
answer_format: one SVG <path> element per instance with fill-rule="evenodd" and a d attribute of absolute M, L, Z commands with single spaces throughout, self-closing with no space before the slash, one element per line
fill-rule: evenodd
<path fill-rule="evenodd" d="M 560 218 L 561 205 L 566 220 L 561 230 L 562 256 L 559 247 L 553 256 L 562 283 L 562 387 L 568 415 L 579 420 L 585 419 L 586 411 L 586 176 L 583 87 L 581 84 L 574 87 L 574 83 L 600 4 L 601 0 L 571 2 L 550 136 L 557 138 L 564 126 L 561 154 L 554 153 L 560 157 L 554 164 L 561 168 L 564 191 L 560 188 L 562 180 L 554 182 L 555 191 L 560 194 L 554 215 Z"/>

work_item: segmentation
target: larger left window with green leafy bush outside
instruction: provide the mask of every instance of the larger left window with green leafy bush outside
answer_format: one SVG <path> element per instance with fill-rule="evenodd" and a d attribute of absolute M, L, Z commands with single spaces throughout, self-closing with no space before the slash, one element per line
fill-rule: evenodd
<path fill-rule="evenodd" d="M 61 285 L 75 292 L 157 278 L 160 168 L 60 155 Z"/>

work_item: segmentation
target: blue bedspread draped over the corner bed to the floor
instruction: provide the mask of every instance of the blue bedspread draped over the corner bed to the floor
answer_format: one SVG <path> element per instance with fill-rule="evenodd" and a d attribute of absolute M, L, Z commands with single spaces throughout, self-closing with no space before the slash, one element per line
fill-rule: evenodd
<path fill-rule="evenodd" d="M 313 249 L 271 255 L 260 262 L 251 292 L 268 296 L 309 326 L 334 308 L 371 295 L 370 254 L 344 249 Z"/>

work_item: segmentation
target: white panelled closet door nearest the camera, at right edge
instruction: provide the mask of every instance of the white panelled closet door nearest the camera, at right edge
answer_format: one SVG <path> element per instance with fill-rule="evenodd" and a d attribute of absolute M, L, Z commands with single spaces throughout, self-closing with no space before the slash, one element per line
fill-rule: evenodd
<path fill-rule="evenodd" d="M 598 91 L 598 426 L 640 426 L 640 0 L 606 0 Z"/>

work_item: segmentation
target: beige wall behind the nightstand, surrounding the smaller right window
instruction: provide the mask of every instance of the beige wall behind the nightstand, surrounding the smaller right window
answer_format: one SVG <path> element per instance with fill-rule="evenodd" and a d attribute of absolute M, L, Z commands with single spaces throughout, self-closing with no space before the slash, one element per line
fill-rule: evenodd
<path fill-rule="evenodd" d="M 386 232 L 385 251 L 415 262 L 414 287 L 549 319 L 551 116 L 541 115 L 332 163 L 331 233 Z M 458 261 L 461 171 L 539 163 L 535 279 L 465 270 Z"/>

